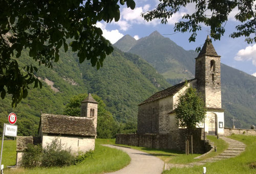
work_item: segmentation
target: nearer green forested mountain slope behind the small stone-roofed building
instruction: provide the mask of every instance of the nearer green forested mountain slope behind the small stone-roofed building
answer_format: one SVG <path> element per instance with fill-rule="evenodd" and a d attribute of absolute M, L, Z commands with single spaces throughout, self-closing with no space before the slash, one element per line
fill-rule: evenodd
<path fill-rule="evenodd" d="M 28 54 L 25 50 L 20 56 L 20 66 L 32 64 L 38 67 L 36 76 L 43 81 L 43 88 L 33 89 L 32 85 L 27 98 L 16 108 L 11 107 L 11 96 L 0 100 L 0 129 L 4 122 L 8 122 L 6 116 L 14 112 L 18 135 L 35 135 L 40 113 L 63 114 L 69 99 L 81 93 L 97 94 L 118 121 L 136 126 L 137 104 L 169 86 L 144 59 L 117 48 L 106 56 L 98 71 L 89 61 L 80 64 L 72 51 L 60 51 L 60 59 L 53 63 L 53 69 L 38 66 Z"/>

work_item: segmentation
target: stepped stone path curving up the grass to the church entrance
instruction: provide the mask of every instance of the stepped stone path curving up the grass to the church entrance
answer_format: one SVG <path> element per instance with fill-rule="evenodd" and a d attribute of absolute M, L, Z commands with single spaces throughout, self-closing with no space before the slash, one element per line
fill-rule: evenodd
<path fill-rule="evenodd" d="M 205 159 L 203 161 L 197 161 L 197 162 L 193 162 L 193 163 L 189 163 L 189 164 L 166 164 L 164 169 L 168 170 L 172 167 L 178 167 L 178 168 L 193 167 L 195 165 L 203 165 L 205 163 L 212 163 L 212 162 L 216 162 L 219 160 L 225 160 L 225 159 L 229 159 L 232 157 L 236 157 L 236 156 L 240 155 L 242 153 L 242 151 L 245 150 L 245 144 L 240 141 L 233 140 L 233 139 L 230 139 L 227 137 L 220 137 L 220 138 L 228 143 L 228 148 L 226 150 L 224 150 L 223 153 L 221 153 L 215 157 Z"/>

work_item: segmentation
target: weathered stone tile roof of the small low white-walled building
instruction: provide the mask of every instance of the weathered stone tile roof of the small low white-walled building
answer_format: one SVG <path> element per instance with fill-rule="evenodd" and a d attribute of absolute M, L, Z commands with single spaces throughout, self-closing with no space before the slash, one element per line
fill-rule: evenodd
<path fill-rule="evenodd" d="M 41 114 L 39 127 L 42 133 L 95 136 L 93 119 L 65 115 Z"/>

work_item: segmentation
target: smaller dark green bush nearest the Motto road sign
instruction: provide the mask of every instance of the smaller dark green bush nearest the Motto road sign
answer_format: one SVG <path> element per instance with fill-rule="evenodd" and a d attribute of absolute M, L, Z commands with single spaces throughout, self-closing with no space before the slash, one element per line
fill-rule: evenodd
<path fill-rule="evenodd" d="M 28 144 L 20 165 L 26 168 L 40 166 L 42 158 L 41 149 L 40 145 Z"/>

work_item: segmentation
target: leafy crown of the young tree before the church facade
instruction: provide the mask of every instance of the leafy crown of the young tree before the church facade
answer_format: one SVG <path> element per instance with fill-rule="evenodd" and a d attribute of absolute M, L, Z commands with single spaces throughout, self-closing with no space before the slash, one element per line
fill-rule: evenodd
<path fill-rule="evenodd" d="M 176 108 L 177 124 L 187 129 L 193 129 L 204 121 L 206 109 L 203 99 L 197 94 L 196 89 L 188 87 L 186 93 L 179 97 Z"/>

